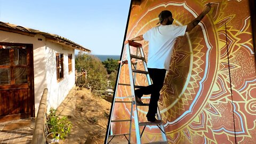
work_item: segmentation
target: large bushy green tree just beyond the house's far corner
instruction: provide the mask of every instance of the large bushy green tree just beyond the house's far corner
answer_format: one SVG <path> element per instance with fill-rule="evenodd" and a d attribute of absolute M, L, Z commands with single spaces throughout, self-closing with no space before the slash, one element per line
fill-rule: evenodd
<path fill-rule="evenodd" d="M 87 71 L 87 78 L 82 77 L 82 84 L 87 89 L 106 90 L 107 88 L 107 70 L 101 61 L 91 54 L 78 53 L 75 59 L 75 67 L 78 71 L 82 69 Z"/>

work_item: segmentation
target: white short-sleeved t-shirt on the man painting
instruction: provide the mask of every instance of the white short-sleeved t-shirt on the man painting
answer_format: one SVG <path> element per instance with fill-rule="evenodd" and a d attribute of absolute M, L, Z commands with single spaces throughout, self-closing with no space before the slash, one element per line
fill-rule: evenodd
<path fill-rule="evenodd" d="M 175 40 L 184 36 L 186 29 L 187 26 L 160 25 L 143 35 L 149 41 L 148 68 L 169 70 Z"/>

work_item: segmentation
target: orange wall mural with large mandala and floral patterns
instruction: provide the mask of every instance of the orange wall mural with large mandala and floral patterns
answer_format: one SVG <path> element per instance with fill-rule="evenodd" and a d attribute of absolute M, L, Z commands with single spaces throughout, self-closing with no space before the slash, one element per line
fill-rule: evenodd
<path fill-rule="evenodd" d="M 187 25 L 209 2 L 215 3 L 210 13 L 177 39 L 170 55 L 158 101 L 166 136 L 169 143 L 255 143 L 256 66 L 249 1 L 144 0 L 132 7 L 126 39 L 155 27 L 162 10 L 172 12 L 174 25 Z M 147 58 L 148 42 L 140 43 Z M 124 65 L 119 83 L 129 83 L 127 70 Z M 137 85 L 147 85 L 143 74 L 137 76 Z M 118 86 L 117 95 L 126 100 L 130 87 Z M 130 118 L 129 104 L 117 103 L 114 109 L 114 119 Z M 140 122 L 146 121 L 147 108 L 138 111 Z M 129 124 L 113 124 L 111 130 L 125 133 Z M 142 142 L 161 138 L 157 126 L 148 126 Z M 134 125 L 132 141 L 136 141 Z"/>

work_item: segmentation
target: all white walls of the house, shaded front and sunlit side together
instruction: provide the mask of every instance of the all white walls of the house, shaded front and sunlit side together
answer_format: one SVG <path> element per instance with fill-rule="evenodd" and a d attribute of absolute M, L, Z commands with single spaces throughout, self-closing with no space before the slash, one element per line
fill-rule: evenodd
<path fill-rule="evenodd" d="M 42 41 L 38 41 L 41 38 Z M 48 88 L 47 109 L 57 108 L 61 101 L 65 99 L 68 92 L 75 85 L 75 51 L 68 47 L 46 41 L 42 35 L 26 36 L 9 33 L 0 30 L 0 42 L 33 44 L 34 54 L 34 90 L 35 90 L 35 115 L 37 115 L 39 102 L 43 90 Z M 57 82 L 55 53 L 64 54 L 64 79 Z M 68 54 L 73 56 L 73 71 L 68 73 Z"/>

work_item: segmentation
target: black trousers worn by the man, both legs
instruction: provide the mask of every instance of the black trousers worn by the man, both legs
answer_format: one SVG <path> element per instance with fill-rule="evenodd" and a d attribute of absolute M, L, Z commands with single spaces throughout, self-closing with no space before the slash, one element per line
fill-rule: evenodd
<path fill-rule="evenodd" d="M 166 69 L 148 68 L 148 72 L 153 84 L 135 90 L 135 93 L 138 95 L 151 94 L 147 118 L 154 119 L 157 113 L 157 102 L 160 97 L 160 91 L 164 84 Z"/>

